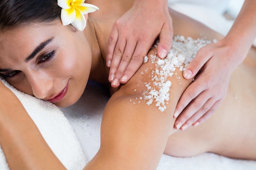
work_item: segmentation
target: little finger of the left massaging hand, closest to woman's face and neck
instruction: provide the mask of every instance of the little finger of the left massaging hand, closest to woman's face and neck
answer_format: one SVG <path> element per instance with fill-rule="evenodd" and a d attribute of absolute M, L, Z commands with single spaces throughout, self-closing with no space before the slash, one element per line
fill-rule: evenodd
<path fill-rule="evenodd" d="M 107 46 L 107 53 L 106 53 L 106 64 L 108 67 L 111 66 L 117 40 L 118 40 L 118 29 L 116 24 L 114 24 L 108 39 L 108 46 Z"/>

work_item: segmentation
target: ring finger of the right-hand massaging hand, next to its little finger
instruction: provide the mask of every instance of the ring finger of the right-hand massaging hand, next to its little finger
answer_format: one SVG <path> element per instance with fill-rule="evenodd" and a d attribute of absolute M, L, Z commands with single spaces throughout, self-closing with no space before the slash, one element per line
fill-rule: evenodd
<path fill-rule="evenodd" d="M 215 100 L 213 98 L 207 100 L 207 102 L 200 108 L 195 114 L 193 114 L 186 122 L 181 126 L 181 130 L 186 130 L 191 126 L 195 121 L 197 121 L 200 117 L 206 114 L 214 104 Z"/>

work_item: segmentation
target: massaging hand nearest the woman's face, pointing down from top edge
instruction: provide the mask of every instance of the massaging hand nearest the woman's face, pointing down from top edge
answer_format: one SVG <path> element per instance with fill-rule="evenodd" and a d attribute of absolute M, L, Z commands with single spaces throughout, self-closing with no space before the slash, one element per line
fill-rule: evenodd
<path fill-rule="evenodd" d="M 143 63 L 159 36 L 157 55 L 166 57 L 173 38 L 172 18 L 167 0 L 135 0 L 113 25 L 107 49 L 107 66 L 112 87 L 125 84 Z"/>

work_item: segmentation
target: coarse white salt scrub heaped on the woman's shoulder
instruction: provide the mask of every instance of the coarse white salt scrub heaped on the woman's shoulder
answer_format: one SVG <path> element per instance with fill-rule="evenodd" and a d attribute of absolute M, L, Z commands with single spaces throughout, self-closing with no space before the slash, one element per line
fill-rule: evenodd
<path fill-rule="evenodd" d="M 156 53 L 146 56 L 144 62 L 148 62 L 148 57 L 150 57 L 151 62 L 156 67 L 152 71 L 152 82 L 145 83 L 147 90 L 143 93 L 143 99 L 146 104 L 150 105 L 155 101 L 155 105 L 163 112 L 166 109 L 166 102 L 169 101 L 169 91 L 172 84 L 171 81 L 167 81 L 167 77 L 173 77 L 173 75 L 177 77 L 177 73 L 174 73 L 176 68 L 179 71 L 184 71 L 198 50 L 210 42 L 205 39 L 193 40 L 190 37 L 184 38 L 184 36 L 177 35 L 173 38 L 172 48 L 165 59 L 158 58 Z M 157 48 L 157 45 L 158 43 L 153 47 Z M 141 72 L 141 74 L 144 73 Z M 180 77 L 177 78 L 180 79 Z"/>

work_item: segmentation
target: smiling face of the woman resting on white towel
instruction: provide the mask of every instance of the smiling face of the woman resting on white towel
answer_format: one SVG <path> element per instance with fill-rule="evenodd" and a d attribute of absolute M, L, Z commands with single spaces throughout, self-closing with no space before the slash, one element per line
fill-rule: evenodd
<path fill-rule="evenodd" d="M 61 24 L 20 27 L 0 33 L 0 73 L 15 88 L 59 107 L 83 94 L 92 62 L 81 31 Z"/>

